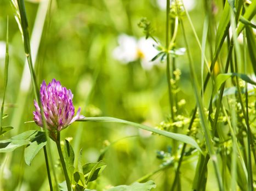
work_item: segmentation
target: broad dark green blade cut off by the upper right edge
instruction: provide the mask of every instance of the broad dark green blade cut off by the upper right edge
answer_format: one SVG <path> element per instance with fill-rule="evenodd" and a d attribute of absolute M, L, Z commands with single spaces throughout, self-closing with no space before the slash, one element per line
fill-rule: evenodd
<path fill-rule="evenodd" d="M 256 40 L 251 27 L 246 27 L 248 53 L 251 58 L 254 74 L 256 75 Z"/>

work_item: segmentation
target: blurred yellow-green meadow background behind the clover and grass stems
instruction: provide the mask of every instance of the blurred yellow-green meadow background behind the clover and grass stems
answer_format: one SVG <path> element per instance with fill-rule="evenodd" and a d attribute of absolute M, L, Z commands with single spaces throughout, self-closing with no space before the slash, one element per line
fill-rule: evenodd
<path fill-rule="evenodd" d="M 155 37 L 164 45 L 166 12 L 157 0 L 62 0 L 52 1 L 51 11 L 44 20 L 43 1 L 26 1 L 30 34 L 39 29 L 35 25 L 44 23 L 42 36 L 35 32 L 35 41 L 40 40 L 35 62 L 38 85 L 53 78 L 62 86 L 70 88 L 74 94 L 73 103 L 76 110 L 82 108 L 84 116 L 112 116 L 156 127 L 169 117 L 169 103 L 166 79 L 166 63 L 155 65 L 150 70 L 141 67 L 139 59 L 129 64 L 122 64 L 113 58 L 113 50 L 118 46 L 118 35 L 128 34 L 137 39 L 144 37 L 137 24 L 141 17 L 147 17 L 155 28 Z M 44 3 L 45 4 L 45 3 Z M 221 1 L 215 1 L 217 18 L 222 10 Z M 46 7 L 47 8 L 47 7 Z M 201 1 L 194 1 L 190 16 L 198 36 L 202 36 L 204 10 Z M 5 41 L 9 16 L 9 81 L 5 113 L 9 115 L 4 125 L 14 127 L 5 134 L 6 138 L 29 129 L 38 129 L 35 123 L 24 123 L 33 118 L 32 87 L 24 90 L 21 81 L 25 67 L 25 53 L 21 34 L 14 19 L 14 11 L 8 0 L 0 1 L 0 40 Z M 192 49 L 192 56 L 200 73 L 201 52 L 196 45 L 191 27 L 184 19 L 186 34 Z M 33 40 L 31 40 L 33 43 Z M 184 47 L 183 36 L 178 31 L 177 47 Z M 1 51 L 3 51 L 1 49 Z M 35 51 L 32 49 L 32 52 Z M 3 52 L 1 52 L 2 54 Z M 177 68 L 181 70 L 178 101 L 186 100 L 183 114 L 190 115 L 195 105 L 187 57 L 177 58 Z M 0 98 L 3 93 L 4 57 L 0 58 Z M 29 84 L 28 81 L 24 81 Z M 185 128 L 179 130 L 185 133 Z M 62 132 L 62 139 L 73 138 L 71 145 L 76 154 L 83 148 L 84 163 L 95 162 L 100 151 L 109 143 L 117 141 L 107 150 L 104 162 L 106 169 L 100 178 L 92 183 L 99 190 L 118 184 L 130 184 L 140 177 L 158 169 L 162 160 L 157 159 L 156 151 L 168 151 L 172 140 L 163 136 L 151 135 L 134 127 L 112 123 L 73 123 Z M 55 145 L 54 164 L 61 172 Z M 3 190 L 45 190 L 47 174 L 43 153 L 40 152 L 31 166 L 24 163 L 24 148 L 13 153 L 1 153 L 1 163 L 5 164 L 2 175 Z M 196 158 L 190 163 L 184 162 L 181 168 L 183 190 L 191 188 L 195 173 Z M 156 190 L 169 190 L 173 180 L 174 168 L 158 172 L 150 177 L 157 184 Z M 209 175 L 209 180 L 215 180 Z M 58 173 L 59 180 L 64 180 Z M 211 188 L 215 182 L 208 182 Z M 213 187 L 214 188 L 214 187 Z M 214 189 L 213 189 L 214 190 Z"/>

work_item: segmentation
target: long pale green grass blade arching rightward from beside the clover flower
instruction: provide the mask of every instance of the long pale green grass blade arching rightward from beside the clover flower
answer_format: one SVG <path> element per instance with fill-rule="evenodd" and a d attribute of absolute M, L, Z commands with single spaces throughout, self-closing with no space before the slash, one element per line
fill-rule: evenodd
<path fill-rule="evenodd" d="M 192 139 L 190 136 L 183 135 L 183 134 L 178 134 L 178 133 L 167 132 L 165 130 L 152 128 L 152 127 L 145 126 L 145 125 L 139 124 L 139 123 L 125 121 L 125 120 L 121 120 L 121 119 L 114 118 L 114 117 L 86 117 L 86 118 L 83 118 L 82 120 L 77 120 L 77 121 L 83 121 L 83 122 L 86 122 L 86 121 L 114 122 L 114 123 L 129 124 L 131 126 L 138 127 L 140 129 L 148 130 L 149 132 L 153 132 L 153 133 L 156 133 L 156 134 L 167 136 L 168 138 L 172 138 L 172 139 L 175 139 L 177 141 L 185 142 L 186 144 L 189 144 L 189 145 L 192 145 L 192 146 L 196 147 L 198 151 L 202 152 L 201 148 L 198 146 L 197 142 L 194 139 Z"/>

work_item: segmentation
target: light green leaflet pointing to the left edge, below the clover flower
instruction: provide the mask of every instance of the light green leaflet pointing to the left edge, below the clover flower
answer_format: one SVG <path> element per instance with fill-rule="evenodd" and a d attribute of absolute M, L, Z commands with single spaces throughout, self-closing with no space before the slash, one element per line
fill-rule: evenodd
<path fill-rule="evenodd" d="M 0 141 L 0 152 L 11 152 L 18 147 L 31 144 L 37 136 L 40 136 L 38 132 L 38 130 L 28 130 L 10 139 Z"/>

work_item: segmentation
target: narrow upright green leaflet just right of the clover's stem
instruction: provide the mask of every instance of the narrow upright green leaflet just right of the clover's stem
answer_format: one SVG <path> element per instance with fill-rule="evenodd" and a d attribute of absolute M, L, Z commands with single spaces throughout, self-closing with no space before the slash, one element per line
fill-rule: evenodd
<path fill-rule="evenodd" d="M 65 140 L 64 160 L 66 163 L 67 172 L 69 173 L 69 178 L 72 181 L 73 171 L 75 170 L 75 167 L 74 167 L 75 153 L 69 141 L 67 140 Z"/>

